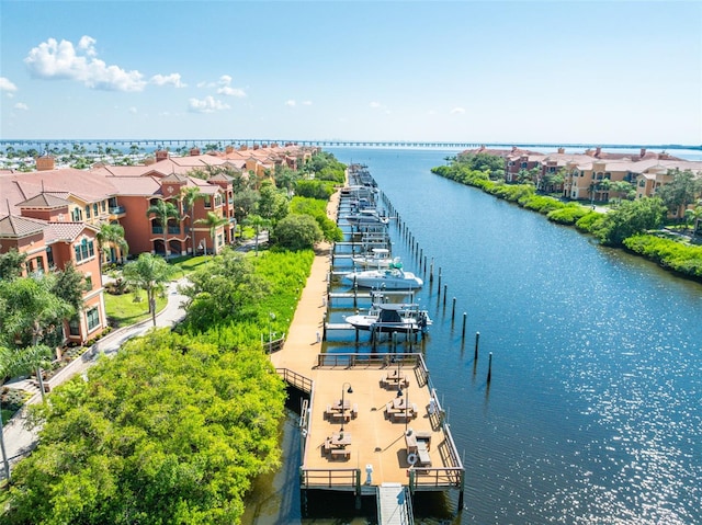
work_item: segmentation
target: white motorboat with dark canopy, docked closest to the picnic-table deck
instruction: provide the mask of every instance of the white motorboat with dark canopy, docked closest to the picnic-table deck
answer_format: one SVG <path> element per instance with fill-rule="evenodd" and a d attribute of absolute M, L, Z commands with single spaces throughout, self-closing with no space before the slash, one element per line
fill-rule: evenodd
<path fill-rule="evenodd" d="M 431 319 L 417 305 L 374 304 L 366 315 L 349 316 L 346 321 L 359 330 L 376 332 L 427 331 Z"/>

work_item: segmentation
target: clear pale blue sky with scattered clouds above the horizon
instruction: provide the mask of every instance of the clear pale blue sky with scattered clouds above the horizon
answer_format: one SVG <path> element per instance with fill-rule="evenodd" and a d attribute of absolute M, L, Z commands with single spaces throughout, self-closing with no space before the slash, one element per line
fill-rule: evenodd
<path fill-rule="evenodd" d="M 702 3 L 0 0 L 0 138 L 702 144 Z"/>

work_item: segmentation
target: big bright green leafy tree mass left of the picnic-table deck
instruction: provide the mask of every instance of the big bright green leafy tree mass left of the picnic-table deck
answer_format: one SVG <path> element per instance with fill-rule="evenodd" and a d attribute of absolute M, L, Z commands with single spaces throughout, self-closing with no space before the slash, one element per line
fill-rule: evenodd
<path fill-rule="evenodd" d="M 285 390 L 260 350 L 161 330 L 61 386 L 41 408 L 1 521 L 240 523 L 251 478 L 280 465 Z"/>

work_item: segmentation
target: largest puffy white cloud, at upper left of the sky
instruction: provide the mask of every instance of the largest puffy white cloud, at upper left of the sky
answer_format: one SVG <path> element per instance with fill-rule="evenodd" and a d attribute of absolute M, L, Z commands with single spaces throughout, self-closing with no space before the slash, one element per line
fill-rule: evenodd
<path fill-rule="evenodd" d="M 87 88 L 106 91 L 144 90 L 146 81 L 139 71 L 107 66 L 95 58 L 94 44 L 90 36 L 80 38 L 78 47 L 68 41 L 49 38 L 32 48 L 24 64 L 36 78 L 76 80 Z"/>

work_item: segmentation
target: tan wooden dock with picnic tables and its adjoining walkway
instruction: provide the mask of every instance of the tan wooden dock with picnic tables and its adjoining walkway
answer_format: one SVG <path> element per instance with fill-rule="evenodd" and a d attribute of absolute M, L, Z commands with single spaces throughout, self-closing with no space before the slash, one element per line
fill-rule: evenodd
<path fill-rule="evenodd" d="M 341 198 L 358 193 L 343 192 Z M 330 215 L 340 209 L 341 204 Z M 329 292 L 329 253 L 315 258 L 287 340 L 271 355 L 281 377 L 304 398 L 303 515 L 309 498 L 328 491 L 353 494 L 356 510 L 373 497 L 382 525 L 412 524 L 412 499 L 422 491 L 457 491 L 462 509 L 463 463 L 422 354 L 409 345 L 387 353 L 325 349 L 320 331 L 328 326 L 329 301 L 351 298 Z M 356 290 L 353 300 L 371 298 L 363 294 Z"/>

